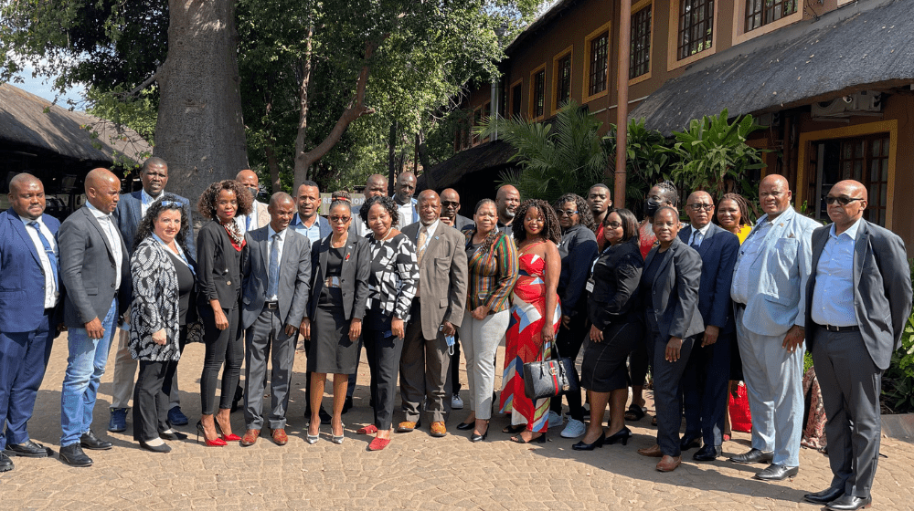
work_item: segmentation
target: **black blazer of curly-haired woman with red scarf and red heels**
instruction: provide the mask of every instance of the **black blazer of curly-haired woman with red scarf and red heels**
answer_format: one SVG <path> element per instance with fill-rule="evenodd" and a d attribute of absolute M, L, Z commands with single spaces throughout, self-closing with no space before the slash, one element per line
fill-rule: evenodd
<path fill-rule="evenodd" d="M 218 299 L 222 308 L 238 307 L 241 296 L 241 267 L 248 256 L 248 246 L 241 249 L 241 260 L 235 263 L 235 247 L 225 227 L 216 220 L 207 222 L 197 235 L 197 302 L 209 307 Z"/>

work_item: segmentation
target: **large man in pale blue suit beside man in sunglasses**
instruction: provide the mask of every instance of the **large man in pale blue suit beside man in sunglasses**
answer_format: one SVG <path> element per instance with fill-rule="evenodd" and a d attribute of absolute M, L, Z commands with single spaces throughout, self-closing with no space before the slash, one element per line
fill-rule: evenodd
<path fill-rule="evenodd" d="M 806 281 L 820 224 L 794 211 L 791 199 L 783 176 L 761 180 L 765 214 L 739 248 L 730 287 L 752 410 L 752 449 L 730 461 L 770 463 L 755 474 L 762 481 L 781 481 L 800 466 Z"/>

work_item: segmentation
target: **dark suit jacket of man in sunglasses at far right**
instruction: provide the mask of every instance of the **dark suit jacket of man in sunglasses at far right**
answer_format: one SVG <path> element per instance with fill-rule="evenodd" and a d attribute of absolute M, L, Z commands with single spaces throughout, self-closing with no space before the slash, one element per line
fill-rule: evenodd
<path fill-rule="evenodd" d="M 854 244 L 854 312 L 866 351 L 886 370 L 911 312 L 911 276 L 905 243 L 898 235 L 860 219 Z M 815 346 L 812 312 L 815 272 L 831 225 L 813 232 L 813 269 L 806 283 L 806 342 Z"/>

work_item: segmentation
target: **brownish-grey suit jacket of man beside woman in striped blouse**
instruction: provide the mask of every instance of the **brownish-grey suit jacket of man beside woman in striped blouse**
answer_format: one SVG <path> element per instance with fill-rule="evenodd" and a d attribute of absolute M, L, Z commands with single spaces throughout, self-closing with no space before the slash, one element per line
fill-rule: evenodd
<path fill-rule="evenodd" d="M 419 253 L 420 222 L 403 228 Z M 436 339 L 444 321 L 459 327 L 466 308 L 466 236 L 450 225 L 438 223 L 419 265 L 419 303 L 422 337 Z"/>

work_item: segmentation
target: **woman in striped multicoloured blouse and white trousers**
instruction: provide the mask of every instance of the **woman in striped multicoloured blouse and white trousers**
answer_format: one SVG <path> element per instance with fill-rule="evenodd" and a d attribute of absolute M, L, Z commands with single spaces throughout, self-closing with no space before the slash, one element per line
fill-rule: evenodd
<path fill-rule="evenodd" d="M 495 350 L 508 328 L 511 289 L 517 281 L 517 249 L 498 229 L 498 209 L 492 199 L 476 203 L 475 225 L 465 232 L 467 300 L 460 335 L 470 387 L 470 415 L 458 430 L 473 430 L 471 442 L 489 433 L 495 384 Z"/>

